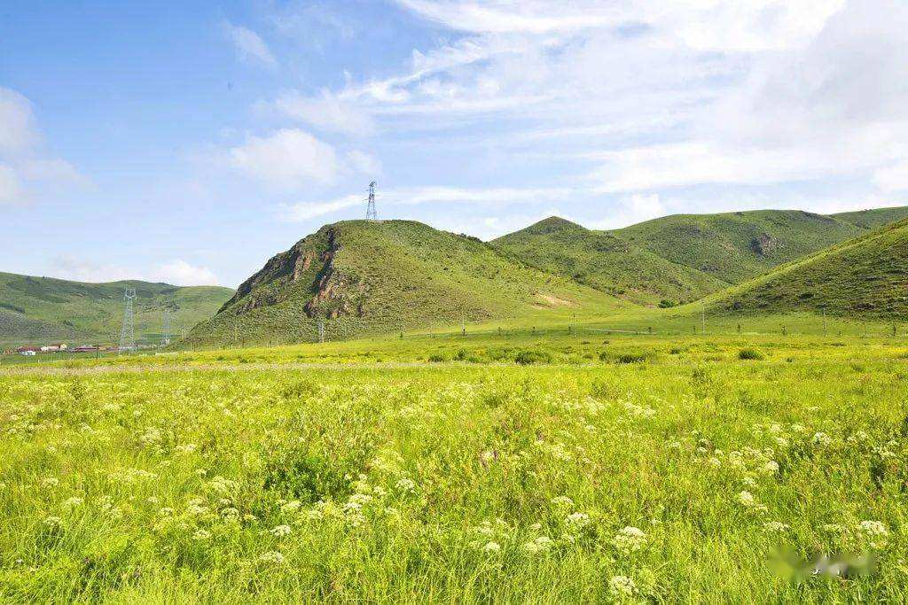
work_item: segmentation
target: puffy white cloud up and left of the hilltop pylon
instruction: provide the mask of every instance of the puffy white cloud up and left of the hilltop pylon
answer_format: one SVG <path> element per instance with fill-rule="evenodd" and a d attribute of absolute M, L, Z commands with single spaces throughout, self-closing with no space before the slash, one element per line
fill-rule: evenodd
<path fill-rule="evenodd" d="M 267 137 L 251 136 L 232 148 L 229 156 L 234 168 L 278 189 L 330 183 L 341 171 L 331 145 L 297 129 L 282 129 Z"/>

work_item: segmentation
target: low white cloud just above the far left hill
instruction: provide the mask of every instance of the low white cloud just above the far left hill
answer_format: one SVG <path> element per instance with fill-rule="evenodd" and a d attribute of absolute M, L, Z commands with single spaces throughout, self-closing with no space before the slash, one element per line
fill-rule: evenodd
<path fill-rule="evenodd" d="M 106 283 L 124 279 L 139 279 L 173 286 L 217 286 L 218 278 L 211 269 L 190 265 L 183 259 L 173 259 L 152 268 L 123 267 L 95 263 L 81 257 L 63 255 L 51 263 L 51 274 L 61 279 Z"/>

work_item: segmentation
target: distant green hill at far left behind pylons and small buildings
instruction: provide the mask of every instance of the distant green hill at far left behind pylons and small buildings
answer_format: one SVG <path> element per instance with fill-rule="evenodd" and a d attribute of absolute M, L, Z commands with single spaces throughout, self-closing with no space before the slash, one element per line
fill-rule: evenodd
<path fill-rule="evenodd" d="M 233 293 L 214 286 L 181 288 L 144 281 L 89 284 L 0 273 L 0 346 L 57 340 L 115 342 L 127 287 L 136 290 L 136 340 L 155 343 L 161 337 L 164 307 L 178 309 L 171 327 L 179 335 L 183 328 L 211 317 Z"/>

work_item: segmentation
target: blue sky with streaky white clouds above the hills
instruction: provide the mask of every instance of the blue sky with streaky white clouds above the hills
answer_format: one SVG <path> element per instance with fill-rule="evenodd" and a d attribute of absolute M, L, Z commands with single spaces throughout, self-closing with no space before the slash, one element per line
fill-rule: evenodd
<path fill-rule="evenodd" d="M 908 3 L 0 3 L 0 271 L 236 287 L 370 181 L 482 239 L 908 204 Z"/>

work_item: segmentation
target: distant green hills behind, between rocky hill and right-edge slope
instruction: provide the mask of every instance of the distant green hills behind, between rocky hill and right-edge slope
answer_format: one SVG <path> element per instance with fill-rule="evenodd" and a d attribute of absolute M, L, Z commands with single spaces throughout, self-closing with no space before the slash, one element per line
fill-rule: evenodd
<path fill-rule="evenodd" d="M 552 217 L 496 239 L 538 268 L 635 302 L 684 302 L 893 220 L 908 207 L 821 215 L 800 210 L 682 214 L 597 231 Z"/>

